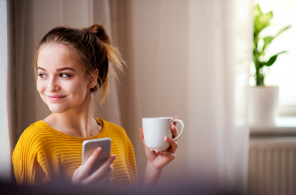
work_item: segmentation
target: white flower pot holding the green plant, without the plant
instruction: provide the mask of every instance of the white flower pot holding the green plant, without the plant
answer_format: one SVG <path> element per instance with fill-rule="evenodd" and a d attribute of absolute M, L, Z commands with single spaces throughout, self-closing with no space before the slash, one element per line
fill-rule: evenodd
<path fill-rule="evenodd" d="M 278 86 L 250 87 L 250 124 L 274 125 L 278 116 Z"/>

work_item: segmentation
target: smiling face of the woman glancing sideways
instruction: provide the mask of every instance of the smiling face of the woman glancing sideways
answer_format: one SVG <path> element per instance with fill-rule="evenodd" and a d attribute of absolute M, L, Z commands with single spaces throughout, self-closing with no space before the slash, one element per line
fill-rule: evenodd
<path fill-rule="evenodd" d="M 89 79 L 67 49 L 61 44 L 46 45 L 38 55 L 37 90 L 53 113 L 74 108 L 79 112 L 89 104 Z"/>

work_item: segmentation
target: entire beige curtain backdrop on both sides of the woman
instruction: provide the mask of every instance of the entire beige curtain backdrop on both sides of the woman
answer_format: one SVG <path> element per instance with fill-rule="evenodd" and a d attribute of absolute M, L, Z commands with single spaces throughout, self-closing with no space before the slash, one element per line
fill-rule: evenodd
<path fill-rule="evenodd" d="M 23 0 L 13 1 L 15 123 L 23 130 L 50 112 L 34 83 L 32 56 L 39 39 L 59 25 L 107 26 L 127 67 L 111 78 L 111 93 L 96 109 L 122 125 L 142 177 L 147 158 L 139 138 L 142 117 L 178 116 L 185 131 L 176 159 L 159 184 L 206 180 L 246 192 L 249 129 L 248 67 L 251 0 Z M 178 127 L 178 126 L 177 126 Z"/>

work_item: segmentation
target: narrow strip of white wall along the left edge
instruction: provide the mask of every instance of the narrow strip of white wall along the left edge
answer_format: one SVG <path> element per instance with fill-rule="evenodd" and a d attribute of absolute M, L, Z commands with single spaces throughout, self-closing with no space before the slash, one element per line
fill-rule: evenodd
<path fill-rule="evenodd" d="M 10 181 L 10 142 L 7 117 L 7 2 L 0 0 L 0 180 Z"/>

